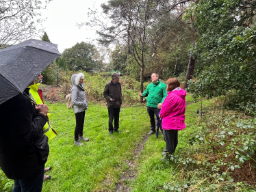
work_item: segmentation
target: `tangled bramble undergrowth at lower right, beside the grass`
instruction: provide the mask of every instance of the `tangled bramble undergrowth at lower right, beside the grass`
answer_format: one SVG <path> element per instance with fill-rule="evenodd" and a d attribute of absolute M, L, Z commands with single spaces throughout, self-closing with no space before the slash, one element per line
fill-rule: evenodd
<path fill-rule="evenodd" d="M 256 120 L 216 107 L 200 113 L 200 131 L 170 157 L 175 179 L 165 191 L 255 191 Z"/>

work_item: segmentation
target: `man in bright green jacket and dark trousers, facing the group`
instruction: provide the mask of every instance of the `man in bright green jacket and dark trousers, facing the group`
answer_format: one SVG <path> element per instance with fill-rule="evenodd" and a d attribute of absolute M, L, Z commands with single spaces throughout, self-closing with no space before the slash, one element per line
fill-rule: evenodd
<path fill-rule="evenodd" d="M 159 75 L 153 73 L 151 75 L 152 83 L 146 87 L 146 90 L 143 93 L 140 91 L 141 97 L 148 97 L 146 99 L 146 106 L 151 123 L 151 131 L 148 133 L 148 135 L 155 133 L 155 116 L 157 117 L 157 115 L 160 113 L 164 99 L 167 96 L 166 84 L 161 83 L 158 78 Z M 160 125 L 160 128 L 161 132 L 163 132 L 162 125 Z"/>

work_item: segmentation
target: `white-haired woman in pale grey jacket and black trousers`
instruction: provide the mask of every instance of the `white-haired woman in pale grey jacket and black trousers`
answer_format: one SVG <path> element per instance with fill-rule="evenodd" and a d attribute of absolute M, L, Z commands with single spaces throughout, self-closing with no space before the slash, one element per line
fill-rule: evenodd
<path fill-rule="evenodd" d="M 71 81 L 73 85 L 71 89 L 71 102 L 73 104 L 76 122 L 74 143 L 77 146 L 81 146 L 84 145 L 81 141 L 89 141 L 88 138 L 83 136 L 84 116 L 88 107 L 86 92 L 84 91 L 84 73 L 73 74 Z"/>

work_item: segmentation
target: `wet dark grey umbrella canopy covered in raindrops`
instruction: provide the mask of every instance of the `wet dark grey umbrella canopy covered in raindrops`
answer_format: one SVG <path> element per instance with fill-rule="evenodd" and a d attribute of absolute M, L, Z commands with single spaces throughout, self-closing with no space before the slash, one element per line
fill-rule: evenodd
<path fill-rule="evenodd" d="M 0 104 L 22 93 L 57 57 L 57 45 L 26 40 L 0 49 Z"/>

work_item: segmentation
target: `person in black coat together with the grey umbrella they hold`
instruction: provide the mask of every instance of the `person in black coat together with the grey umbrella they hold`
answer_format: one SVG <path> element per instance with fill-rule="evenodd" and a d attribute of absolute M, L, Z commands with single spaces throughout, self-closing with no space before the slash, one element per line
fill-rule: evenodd
<path fill-rule="evenodd" d="M 57 57 L 57 45 L 40 40 L 0 50 L 0 167 L 14 180 L 13 192 L 42 191 L 49 108 L 33 105 L 27 86 Z"/>

